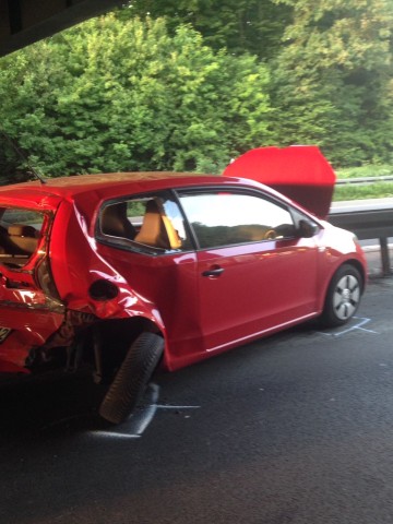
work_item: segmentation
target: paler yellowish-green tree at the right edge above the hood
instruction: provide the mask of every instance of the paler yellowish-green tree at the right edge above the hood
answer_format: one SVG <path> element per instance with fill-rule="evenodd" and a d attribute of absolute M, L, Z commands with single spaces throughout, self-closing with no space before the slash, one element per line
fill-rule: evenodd
<path fill-rule="evenodd" d="M 315 142 L 336 164 L 389 162 L 391 0 L 275 0 L 294 10 L 273 67 L 283 143 Z"/>

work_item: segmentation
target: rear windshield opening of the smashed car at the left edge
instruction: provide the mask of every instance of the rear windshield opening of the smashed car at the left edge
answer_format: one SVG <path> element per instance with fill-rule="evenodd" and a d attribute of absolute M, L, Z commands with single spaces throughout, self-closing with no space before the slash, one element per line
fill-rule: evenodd
<path fill-rule="evenodd" d="M 16 207 L 0 207 L 0 263 L 25 265 L 35 253 L 45 216 Z"/>

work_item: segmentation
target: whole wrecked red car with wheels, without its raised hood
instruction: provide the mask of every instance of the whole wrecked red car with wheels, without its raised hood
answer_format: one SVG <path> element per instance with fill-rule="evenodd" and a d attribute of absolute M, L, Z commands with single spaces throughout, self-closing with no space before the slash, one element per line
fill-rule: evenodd
<path fill-rule="evenodd" d="M 356 312 L 355 236 L 251 180 L 86 175 L 0 189 L 0 371 L 92 365 L 122 421 L 175 370 Z"/>

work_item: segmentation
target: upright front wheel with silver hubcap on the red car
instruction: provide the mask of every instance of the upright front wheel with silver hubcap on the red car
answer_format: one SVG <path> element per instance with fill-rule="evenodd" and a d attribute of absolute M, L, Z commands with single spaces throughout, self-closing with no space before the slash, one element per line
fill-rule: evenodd
<path fill-rule="evenodd" d="M 321 317 L 323 325 L 344 325 L 356 313 L 360 303 L 364 279 L 352 264 L 344 264 L 334 274 L 326 294 Z"/>

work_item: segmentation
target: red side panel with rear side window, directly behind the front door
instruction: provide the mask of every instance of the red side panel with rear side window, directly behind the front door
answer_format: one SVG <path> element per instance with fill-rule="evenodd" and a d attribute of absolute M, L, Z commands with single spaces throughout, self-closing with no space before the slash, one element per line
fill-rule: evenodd
<path fill-rule="evenodd" d="M 174 194 L 158 191 L 105 202 L 97 239 L 99 255 L 159 313 L 169 369 L 198 360 L 203 341 L 196 253 Z"/>

